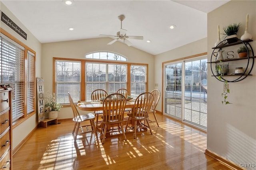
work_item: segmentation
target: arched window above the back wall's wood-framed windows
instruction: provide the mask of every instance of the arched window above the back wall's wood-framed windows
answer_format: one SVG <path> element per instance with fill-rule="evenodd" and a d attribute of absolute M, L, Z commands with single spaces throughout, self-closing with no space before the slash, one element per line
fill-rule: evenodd
<path fill-rule="evenodd" d="M 94 53 L 86 54 L 86 59 L 101 59 L 101 60 L 114 60 L 114 61 L 127 61 L 127 58 L 109 51 L 97 51 Z"/>

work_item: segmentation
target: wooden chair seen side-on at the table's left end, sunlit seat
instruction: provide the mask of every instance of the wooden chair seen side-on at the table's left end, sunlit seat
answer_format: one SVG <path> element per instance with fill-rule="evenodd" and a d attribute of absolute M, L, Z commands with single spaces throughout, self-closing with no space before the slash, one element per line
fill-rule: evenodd
<path fill-rule="evenodd" d="M 73 115 L 74 115 L 73 121 L 75 122 L 74 129 L 72 131 L 72 134 L 74 135 L 74 141 L 76 141 L 77 135 L 82 135 L 82 134 L 86 134 L 86 133 L 94 133 L 96 136 L 96 141 L 97 141 L 97 143 L 99 143 L 97 129 L 94 124 L 94 119 L 95 119 L 94 114 L 88 113 L 85 115 L 80 115 L 80 113 L 78 112 L 78 110 L 76 108 L 76 105 L 74 104 L 74 102 L 70 96 L 70 93 L 68 93 L 68 98 L 69 98 L 70 106 L 72 108 Z M 88 121 L 90 121 L 90 126 L 91 126 L 90 129 L 89 129 L 88 125 L 80 126 L 80 123 L 88 122 Z M 85 127 L 84 129 L 86 129 L 86 130 L 84 130 L 83 127 Z M 79 129 L 81 129 L 81 132 L 79 132 Z"/>

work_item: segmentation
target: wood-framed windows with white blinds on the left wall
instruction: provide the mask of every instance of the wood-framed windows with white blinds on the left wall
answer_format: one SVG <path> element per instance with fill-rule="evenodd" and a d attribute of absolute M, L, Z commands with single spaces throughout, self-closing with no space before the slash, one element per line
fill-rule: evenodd
<path fill-rule="evenodd" d="M 15 124 L 26 120 L 28 114 L 36 113 L 36 53 L 1 29 L 0 56 L 0 83 L 10 84 L 13 88 L 12 122 Z"/>

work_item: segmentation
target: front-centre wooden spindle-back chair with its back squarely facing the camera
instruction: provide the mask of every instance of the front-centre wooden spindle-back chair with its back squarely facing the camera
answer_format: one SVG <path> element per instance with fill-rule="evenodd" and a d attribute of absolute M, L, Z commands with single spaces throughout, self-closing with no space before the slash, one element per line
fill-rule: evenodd
<path fill-rule="evenodd" d="M 102 144 L 104 144 L 105 142 L 106 132 L 109 129 L 108 126 L 114 125 L 114 124 L 117 124 L 118 126 L 117 131 L 120 132 L 121 130 L 124 136 L 124 140 L 126 140 L 124 127 L 122 124 L 122 122 L 124 121 L 125 106 L 126 106 L 126 98 L 124 95 L 119 93 L 110 94 L 103 100 Z M 112 128 L 111 132 L 114 132 L 114 130 L 115 129 Z"/>

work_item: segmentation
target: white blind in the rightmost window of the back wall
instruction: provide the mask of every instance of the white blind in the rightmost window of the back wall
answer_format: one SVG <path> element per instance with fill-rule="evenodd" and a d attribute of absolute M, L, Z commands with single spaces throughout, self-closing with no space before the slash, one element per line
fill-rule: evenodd
<path fill-rule="evenodd" d="M 131 96 L 136 97 L 146 92 L 146 66 L 131 65 Z"/>

